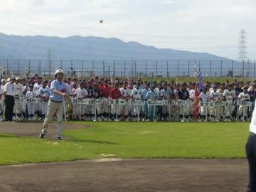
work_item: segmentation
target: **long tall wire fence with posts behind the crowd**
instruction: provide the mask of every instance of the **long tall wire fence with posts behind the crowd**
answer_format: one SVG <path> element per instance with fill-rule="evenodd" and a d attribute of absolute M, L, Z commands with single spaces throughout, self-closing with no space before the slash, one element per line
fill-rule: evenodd
<path fill-rule="evenodd" d="M 89 77 L 194 77 L 198 69 L 203 76 L 255 78 L 256 60 L 24 60 L 0 59 L 6 75 L 53 75 L 61 68 L 68 75 Z"/>

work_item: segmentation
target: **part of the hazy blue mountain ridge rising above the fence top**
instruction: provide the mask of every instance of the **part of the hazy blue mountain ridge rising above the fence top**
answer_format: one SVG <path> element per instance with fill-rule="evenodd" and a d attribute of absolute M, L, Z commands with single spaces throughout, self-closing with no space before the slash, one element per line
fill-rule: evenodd
<path fill-rule="evenodd" d="M 154 48 L 118 38 L 7 36 L 0 33 L 0 58 L 76 60 L 223 60 L 208 53 Z"/>

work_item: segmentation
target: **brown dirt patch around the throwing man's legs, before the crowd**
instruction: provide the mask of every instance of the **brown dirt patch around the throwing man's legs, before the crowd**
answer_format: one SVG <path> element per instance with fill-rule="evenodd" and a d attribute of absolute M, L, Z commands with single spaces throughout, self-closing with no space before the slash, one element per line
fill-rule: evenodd
<path fill-rule="evenodd" d="M 72 125 L 72 126 L 71 126 Z M 21 137 L 39 137 L 43 122 L 0 122 L 0 133 L 14 134 Z M 84 129 L 86 124 L 64 123 L 63 129 Z M 49 124 L 46 139 L 56 139 L 57 123 Z M 65 138 L 64 139 L 68 139 Z"/>

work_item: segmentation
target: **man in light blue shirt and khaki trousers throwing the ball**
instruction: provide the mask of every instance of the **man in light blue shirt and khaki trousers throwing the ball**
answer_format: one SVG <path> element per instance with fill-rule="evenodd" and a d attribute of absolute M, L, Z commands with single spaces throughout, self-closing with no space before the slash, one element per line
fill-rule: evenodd
<path fill-rule="evenodd" d="M 63 82 L 63 70 L 55 71 L 55 80 L 50 84 L 50 100 L 48 102 L 46 119 L 43 122 L 43 129 L 40 138 L 46 136 L 49 122 L 53 119 L 53 114 L 57 114 L 57 139 L 61 140 L 63 127 L 63 102 L 70 101 L 70 89 L 67 84 Z"/>

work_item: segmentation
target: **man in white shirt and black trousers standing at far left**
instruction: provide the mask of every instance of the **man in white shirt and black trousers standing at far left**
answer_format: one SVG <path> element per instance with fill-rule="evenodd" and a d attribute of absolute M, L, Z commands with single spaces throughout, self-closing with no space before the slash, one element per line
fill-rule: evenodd
<path fill-rule="evenodd" d="M 15 88 L 14 82 L 16 81 L 16 77 L 11 75 L 11 80 L 6 83 L 4 87 L 4 102 L 5 102 L 5 119 L 6 122 L 11 122 L 12 117 L 14 116 L 14 95 L 15 95 Z"/>

